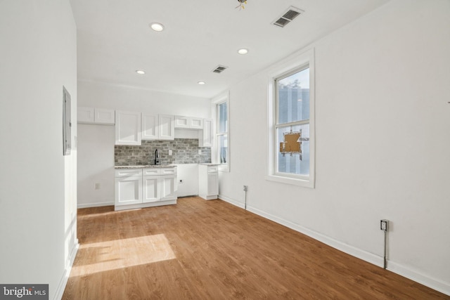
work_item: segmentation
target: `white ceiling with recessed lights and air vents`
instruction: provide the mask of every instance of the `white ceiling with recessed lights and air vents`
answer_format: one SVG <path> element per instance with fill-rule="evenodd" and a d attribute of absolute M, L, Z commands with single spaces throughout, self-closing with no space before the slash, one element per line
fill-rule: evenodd
<path fill-rule="evenodd" d="M 239 9 L 237 0 L 70 0 L 78 79 L 212 98 L 387 1 L 248 0 Z M 304 13 L 271 25 L 290 6 Z M 217 65 L 229 68 L 216 74 Z"/>

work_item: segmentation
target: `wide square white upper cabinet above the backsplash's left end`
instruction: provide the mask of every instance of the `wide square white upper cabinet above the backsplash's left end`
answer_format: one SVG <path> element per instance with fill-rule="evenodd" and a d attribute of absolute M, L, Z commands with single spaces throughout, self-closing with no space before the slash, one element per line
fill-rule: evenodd
<path fill-rule="evenodd" d="M 115 112 L 115 145 L 141 145 L 141 112 Z"/>

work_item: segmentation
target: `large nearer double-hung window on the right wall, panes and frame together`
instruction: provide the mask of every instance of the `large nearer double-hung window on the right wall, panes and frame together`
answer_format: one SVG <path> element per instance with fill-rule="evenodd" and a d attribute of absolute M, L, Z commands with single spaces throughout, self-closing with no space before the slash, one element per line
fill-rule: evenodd
<path fill-rule="evenodd" d="M 314 70 L 311 56 L 271 77 L 269 180 L 314 187 Z M 286 70 L 287 69 L 287 70 Z"/>

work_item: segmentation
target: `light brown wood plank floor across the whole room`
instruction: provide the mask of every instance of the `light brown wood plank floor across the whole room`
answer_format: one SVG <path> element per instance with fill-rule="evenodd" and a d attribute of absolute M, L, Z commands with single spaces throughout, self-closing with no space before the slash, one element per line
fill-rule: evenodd
<path fill-rule="evenodd" d="M 221 200 L 77 220 L 63 299 L 450 299 Z"/>

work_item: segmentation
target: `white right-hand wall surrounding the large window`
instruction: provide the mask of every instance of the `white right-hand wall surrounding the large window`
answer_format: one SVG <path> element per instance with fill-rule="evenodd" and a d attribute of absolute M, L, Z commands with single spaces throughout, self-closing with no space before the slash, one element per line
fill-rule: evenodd
<path fill-rule="evenodd" d="M 307 47 L 314 189 L 264 179 L 267 82 L 283 62 L 233 86 L 221 198 L 243 206 L 248 185 L 248 209 L 379 266 L 389 219 L 388 269 L 450 294 L 449 15 L 447 0 L 394 0 Z"/>

